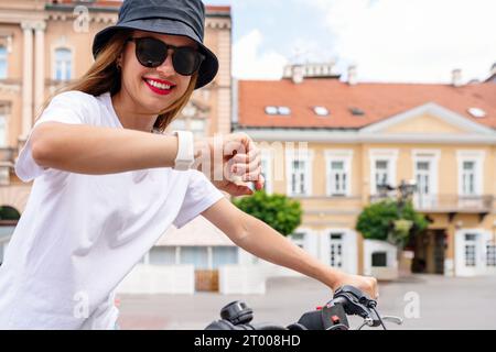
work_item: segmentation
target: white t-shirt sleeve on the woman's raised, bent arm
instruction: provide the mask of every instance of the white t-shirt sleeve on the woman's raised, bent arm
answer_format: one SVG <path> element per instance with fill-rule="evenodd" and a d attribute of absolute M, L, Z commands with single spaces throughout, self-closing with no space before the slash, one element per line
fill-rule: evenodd
<path fill-rule="evenodd" d="M 71 124 L 86 123 L 87 119 L 87 105 L 88 95 L 82 91 L 66 91 L 55 96 L 50 105 L 43 110 L 40 118 L 34 122 L 31 129 L 26 142 L 19 153 L 19 157 L 15 161 L 15 174 L 23 182 L 30 182 L 50 168 L 45 168 L 36 164 L 31 152 L 31 135 L 34 129 L 43 122 L 54 121 Z M 86 105 L 86 106 L 85 106 Z"/>

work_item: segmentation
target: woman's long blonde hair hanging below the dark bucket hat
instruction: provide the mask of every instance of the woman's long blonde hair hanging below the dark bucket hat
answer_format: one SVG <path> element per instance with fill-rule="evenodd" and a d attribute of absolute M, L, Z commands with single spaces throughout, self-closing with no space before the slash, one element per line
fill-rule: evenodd
<path fill-rule="evenodd" d="M 116 32 L 100 50 L 95 63 L 86 74 L 76 81 L 57 89 L 57 91 L 46 100 L 41 111 L 48 106 L 50 101 L 56 95 L 68 90 L 79 90 L 95 97 L 107 91 L 110 92 L 110 96 L 117 94 L 121 89 L 121 72 L 117 67 L 117 58 L 122 52 L 127 38 L 131 36 L 131 30 L 120 30 Z M 195 73 L 191 77 L 190 85 L 184 95 L 172 106 L 159 112 L 155 123 L 153 124 L 154 130 L 163 132 L 184 106 L 186 106 L 195 89 L 197 78 L 198 74 Z"/>

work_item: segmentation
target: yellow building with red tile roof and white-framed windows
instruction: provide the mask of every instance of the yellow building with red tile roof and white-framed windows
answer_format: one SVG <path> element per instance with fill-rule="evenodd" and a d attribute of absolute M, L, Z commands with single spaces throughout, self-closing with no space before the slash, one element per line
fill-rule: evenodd
<path fill-rule="evenodd" d="M 274 81 L 242 80 L 234 130 L 263 151 L 267 190 L 298 198 L 293 239 L 323 262 L 368 273 L 355 230 L 378 186 L 414 180 L 431 221 L 416 272 L 496 274 L 496 85 L 362 84 L 328 65 L 290 66 Z"/>

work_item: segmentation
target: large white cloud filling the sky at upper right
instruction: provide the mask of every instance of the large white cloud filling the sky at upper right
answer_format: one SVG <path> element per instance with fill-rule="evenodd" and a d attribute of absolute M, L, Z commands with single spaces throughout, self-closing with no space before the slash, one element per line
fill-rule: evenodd
<path fill-rule="evenodd" d="M 484 79 L 496 61 L 494 0 L 314 0 L 362 80 Z M 343 63 L 342 63 L 343 65 Z"/>

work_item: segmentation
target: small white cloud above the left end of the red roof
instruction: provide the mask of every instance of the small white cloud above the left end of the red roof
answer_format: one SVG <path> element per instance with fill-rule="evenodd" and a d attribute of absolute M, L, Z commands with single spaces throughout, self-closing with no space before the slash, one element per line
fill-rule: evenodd
<path fill-rule="evenodd" d="M 252 30 L 233 45 L 233 76 L 238 79 L 278 79 L 288 59 L 276 51 L 259 52 L 263 37 Z"/>

